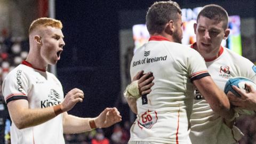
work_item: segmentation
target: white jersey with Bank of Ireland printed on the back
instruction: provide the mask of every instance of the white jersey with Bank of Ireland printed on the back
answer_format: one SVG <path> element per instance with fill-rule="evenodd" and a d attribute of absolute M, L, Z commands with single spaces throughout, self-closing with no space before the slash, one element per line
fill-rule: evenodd
<path fill-rule="evenodd" d="M 153 36 L 131 61 L 131 77 L 140 70 L 153 72 L 155 85 L 150 94 L 137 99 L 138 115 L 129 143 L 190 143 L 192 81 L 209 76 L 202 56 L 188 46 Z"/>

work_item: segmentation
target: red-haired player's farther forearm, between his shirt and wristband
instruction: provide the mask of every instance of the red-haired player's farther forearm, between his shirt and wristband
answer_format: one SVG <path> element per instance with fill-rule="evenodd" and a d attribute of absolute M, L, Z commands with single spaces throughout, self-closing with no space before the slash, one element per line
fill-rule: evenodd
<path fill-rule="evenodd" d="M 95 118 L 81 118 L 73 115 L 68 115 L 68 113 L 63 114 L 63 132 L 65 134 L 69 133 L 81 133 L 90 131 L 90 121 L 94 121 Z M 96 126 L 96 125 L 95 125 Z M 96 127 L 93 127 L 96 128 Z"/>

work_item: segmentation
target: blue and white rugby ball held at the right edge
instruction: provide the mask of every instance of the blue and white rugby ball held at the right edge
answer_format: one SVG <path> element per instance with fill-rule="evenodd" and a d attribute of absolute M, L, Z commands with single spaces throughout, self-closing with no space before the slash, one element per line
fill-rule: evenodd
<path fill-rule="evenodd" d="M 251 81 L 250 79 L 245 78 L 245 77 L 234 77 L 234 78 L 230 78 L 228 80 L 228 82 L 225 85 L 224 92 L 227 94 L 230 91 L 230 92 L 234 93 L 237 97 L 241 97 L 241 95 L 239 93 L 237 93 L 233 89 L 232 86 L 235 85 L 239 89 L 249 92 L 249 89 L 248 89 L 248 87 L 246 87 L 245 83 L 252 85 L 253 88 L 256 90 L 256 84 L 253 81 Z"/>

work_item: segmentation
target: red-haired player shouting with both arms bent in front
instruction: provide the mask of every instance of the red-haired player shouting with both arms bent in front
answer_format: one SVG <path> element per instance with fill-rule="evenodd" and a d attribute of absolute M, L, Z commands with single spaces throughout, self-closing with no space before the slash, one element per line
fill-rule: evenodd
<path fill-rule="evenodd" d="M 3 82 L 3 94 L 12 119 L 11 143 L 65 143 L 63 133 L 80 133 L 108 127 L 121 121 L 116 108 L 106 108 L 95 118 L 69 115 L 82 90 L 73 89 L 63 97 L 59 80 L 46 71 L 60 60 L 65 42 L 62 23 L 39 18 L 29 28 L 29 54 Z"/>

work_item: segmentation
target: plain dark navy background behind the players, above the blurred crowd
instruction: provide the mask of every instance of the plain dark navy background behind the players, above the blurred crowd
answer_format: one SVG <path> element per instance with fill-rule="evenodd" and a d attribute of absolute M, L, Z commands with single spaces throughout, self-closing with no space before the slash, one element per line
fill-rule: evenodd
<path fill-rule="evenodd" d="M 97 116 L 106 107 L 118 107 L 129 119 L 129 107 L 120 100 L 119 29 L 145 23 L 148 7 L 155 1 L 61 1 L 56 19 L 63 23 L 66 46 L 57 65 L 65 93 L 77 87 L 85 98 L 69 113 Z M 229 15 L 255 18 L 255 1 L 175 1 L 183 8 L 219 4 Z"/>

